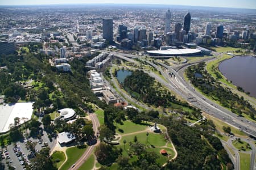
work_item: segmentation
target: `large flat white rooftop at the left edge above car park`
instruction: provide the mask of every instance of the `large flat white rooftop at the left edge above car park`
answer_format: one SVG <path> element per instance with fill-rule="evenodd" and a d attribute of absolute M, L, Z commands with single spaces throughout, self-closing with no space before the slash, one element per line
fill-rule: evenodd
<path fill-rule="evenodd" d="M 0 133 L 9 130 L 10 124 L 14 124 L 14 118 L 20 118 L 20 124 L 24 123 L 23 118 L 31 119 L 33 113 L 32 102 L 0 105 Z"/>

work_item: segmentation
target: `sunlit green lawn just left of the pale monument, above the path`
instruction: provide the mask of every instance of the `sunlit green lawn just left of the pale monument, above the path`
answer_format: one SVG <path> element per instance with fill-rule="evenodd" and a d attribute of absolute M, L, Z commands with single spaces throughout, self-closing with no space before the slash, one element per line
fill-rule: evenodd
<path fill-rule="evenodd" d="M 114 124 L 116 125 L 116 124 Z M 117 124 L 118 125 L 118 128 L 115 129 L 115 133 L 119 133 L 119 134 L 127 134 L 127 133 L 133 133 L 133 132 L 136 132 L 136 131 L 142 131 L 142 130 L 146 130 L 147 124 L 135 124 L 134 122 L 131 122 L 131 121 L 125 121 L 123 122 L 123 125 L 121 124 Z M 121 129 L 123 130 L 123 133 L 122 131 L 119 131 L 118 129 Z"/>

